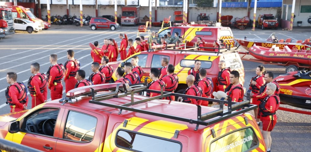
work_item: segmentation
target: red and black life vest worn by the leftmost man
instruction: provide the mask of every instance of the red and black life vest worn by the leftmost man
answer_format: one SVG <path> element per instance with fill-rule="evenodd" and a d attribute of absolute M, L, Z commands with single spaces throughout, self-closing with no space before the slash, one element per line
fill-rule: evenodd
<path fill-rule="evenodd" d="M 12 98 L 9 96 L 9 89 L 11 86 L 15 86 L 16 89 L 18 90 L 17 96 L 18 102 L 20 102 L 21 104 L 26 103 L 28 98 L 26 85 L 23 82 L 17 82 L 12 85 L 9 85 L 7 87 L 7 90 L 5 90 L 5 97 L 7 98 L 7 104 L 9 104 L 10 106 L 15 106 L 15 104 L 12 102 Z"/>

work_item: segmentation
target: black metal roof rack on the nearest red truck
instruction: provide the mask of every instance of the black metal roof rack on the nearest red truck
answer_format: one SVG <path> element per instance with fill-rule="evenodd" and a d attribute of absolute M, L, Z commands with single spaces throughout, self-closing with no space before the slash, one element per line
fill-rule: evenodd
<path fill-rule="evenodd" d="M 120 90 L 121 88 L 123 89 L 123 93 L 118 93 L 118 90 Z M 221 120 L 230 118 L 230 117 L 235 116 L 235 115 L 242 114 L 244 112 L 247 112 L 247 111 L 250 111 L 250 110 L 253 110 L 256 108 L 256 105 L 251 105 L 249 100 L 245 100 L 242 102 L 231 102 L 231 98 L 228 98 L 228 100 L 224 100 L 224 98 L 221 98 L 219 100 L 219 99 L 212 99 L 212 98 L 190 96 L 190 95 L 179 94 L 179 93 L 170 93 L 170 92 L 163 91 L 163 89 L 161 89 L 161 91 L 156 91 L 156 90 L 150 90 L 150 89 L 146 89 L 146 88 L 147 88 L 146 83 L 145 83 L 145 85 L 139 84 L 139 85 L 135 85 L 132 87 L 126 87 L 126 85 L 124 83 L 120 83 L 120 84 L 117 84 L 117 87 L 114 89 L 115 90 L 114 92 L 103 93 L 103 94 L 98 94 L 98 95 L 95 92 L 96 89 L 90 88 L 92 99 L 89 100 L 89 102 L 93 103 L 93 104 L 98 104 L 98 105 L 102 105 L 102 106 L 108 106 L 108 107 L 120 109 L 119 114 L 122 113 L 122 110 L 128 110 L 128 111 L 143 113 L 143 114 L 147 114 L 147 115 L 154 115 L 154 116 L 159 116 L 159 117 L 163 117 L 163 118 L 184 121 L 184 122 L 188 122 L 190 124 L 197 124 L 196 128 L 194 130 L 197 130 L 199 125 L 208 126 L 209 124 L 219 122 Z M 161 95 L 151 97 L 151 98 L 142 99 L 142 100 L 138 100 L 138 101 L 134 101 L 134 93 L 143 93 L 143 91 L 161 93 Z M 131 95 L 131 102 L 125 103 L 122 105 L 100 102 L 100 101 L 108 100 L 111 98 L 121 98 L 121 97 L 125 97 L 128 95 Z M 207 100 L 207 101 L 211 101 L 211 102 L 218 102 L 220 104 L 220 108 L 215 110 L 215 111 L 211 111 L 211 112 L 207 112 L 207 113 L 202 114 L 201 106 L 197 105 L 197 117 L 193 118 L 193 119 L 189 119 L 189 118 L 185 118 L 185 117 L 168 115 L 168 114 L 164 114 L 164 113 L 159 113 L 159 112 L 129 107 L 132 105 L 136 105 L 136 104 L 140 104 L 140 103 L 144 103 L 144 102 L 149 102 L 149 101 L 152 101 L 155 99 L 162 99 L 164 97 L 168 97 L 171 95 L 178 96 L 178 97 L 199 99 L 199 100 Z M 224 104 L 228 104 L 228 110 L 223 109 Z M 238 110 L 238 111 L 236 111 L 236 110 Z M 211 118 L 215 118 L 215 119 L 211 119 Z"/>

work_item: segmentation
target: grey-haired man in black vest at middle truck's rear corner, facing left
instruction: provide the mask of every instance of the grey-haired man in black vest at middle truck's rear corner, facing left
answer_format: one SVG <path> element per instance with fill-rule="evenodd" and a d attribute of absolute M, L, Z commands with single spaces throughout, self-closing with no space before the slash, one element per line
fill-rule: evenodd
<path fill-rule="evenodd" d="M 219 61 L 218 67 L 220 71 L 218 72 L 216 80 L 216 91 L 224 91 L 230 85 L 230 68 L 226 68 L 226 63 L 224 60 Z"/>

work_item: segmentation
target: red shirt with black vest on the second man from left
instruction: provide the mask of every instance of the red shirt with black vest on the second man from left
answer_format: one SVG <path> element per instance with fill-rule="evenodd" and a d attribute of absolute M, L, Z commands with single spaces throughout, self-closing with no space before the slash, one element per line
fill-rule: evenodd
<path fill-rule="evenodd" d="M 45 79 L 45 75 L 37 73 L 30 77 L 30 82 L 28 82 L 29 93 L 31 97 L 38 97 L 43 103 L 48 97 L 48 83 Z"/>

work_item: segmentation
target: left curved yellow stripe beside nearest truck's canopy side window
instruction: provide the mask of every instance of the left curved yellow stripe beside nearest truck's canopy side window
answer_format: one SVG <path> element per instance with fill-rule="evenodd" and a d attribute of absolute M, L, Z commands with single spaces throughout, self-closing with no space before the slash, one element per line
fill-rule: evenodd
<path fill-rule="evenodd" d="M 137 126 L 139 126 L 140 124 L 148 121 L 148 119 L 143 119 L 143 118 L 138 118 L 138 117 L 132 117 L 128 120 L 128 124 L 126 125 L 126 127 L 123 127 L 123 123 L 121 123 L 120 125 L 118 125 L 118 127 L 116 127 L 114 129 L 114 131 L 105 139 L 105 143 L 104 143 L 104 148 L 103 151 L 112 151 L 116 148 L 116 145 L 114 144 L 115 141 L 115 134 L 117 133 L 117 131 L 121 128 L 126 129 L 126 130 L 134 130 L 135 128 L 137 128 Z M 112 136 L 113 135 L 113 136 Z M 102 145 L 102 144 L 101 144 Z M 95 151 L 98 151 L 100 147 L 98 147 Z"/>

